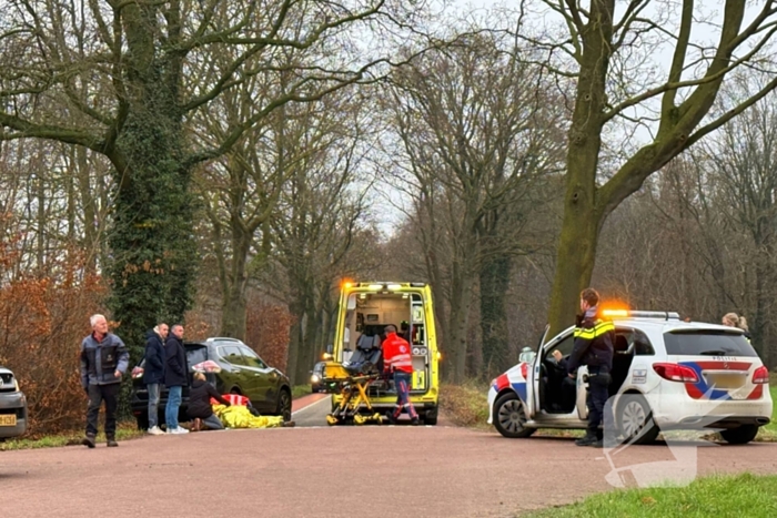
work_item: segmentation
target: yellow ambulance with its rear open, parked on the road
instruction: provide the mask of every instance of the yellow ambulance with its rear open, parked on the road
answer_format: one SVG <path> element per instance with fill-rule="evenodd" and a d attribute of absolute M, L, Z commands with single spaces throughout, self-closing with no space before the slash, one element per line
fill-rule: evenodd
<path fill-rule="evenodd" d="M 436 425 L 441 355 L 434 331 L 432 290 L 427 284 L 344 282 L 334 343 L 327 347 L 326 359 L 347 363 L 356 351 L 360 337 L 381 337 L 389 324 L 396 326 L 400 329 L 397 333 L 411 345 L 411 402 L 424 424 Z M 372 406 L 381 413 L 393 409 L 396 404 L 396 392 L 392 385 L 371 384 L 369 396 Z M 333 409 L 341 397 L 337 394 L 332 396 Z"/>

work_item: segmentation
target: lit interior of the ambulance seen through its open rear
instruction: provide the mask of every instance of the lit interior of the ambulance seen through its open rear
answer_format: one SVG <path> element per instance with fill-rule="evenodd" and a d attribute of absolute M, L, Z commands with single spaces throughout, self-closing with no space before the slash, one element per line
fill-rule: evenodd
<path fill-rule="evenodd" d="M 376 360 L 383 369 L 382 355 L 374 355 L 381 347 L 384 328 L 393 324 L 397 334 L 411 345 L 413 360 L 413 385 L 411 392 L 424 393 L 428 389 L 430 351 L 426 339 L 426 323 L 421 293 L 352 293 L 347 299 L 347 311 L 343 326 L 341 360 L 344 364 L 367 357 Z M 402 323 L 407 329 L 403 333 Z M 380 390 L 379 384 L 371 386 L 371 393 Z"/>

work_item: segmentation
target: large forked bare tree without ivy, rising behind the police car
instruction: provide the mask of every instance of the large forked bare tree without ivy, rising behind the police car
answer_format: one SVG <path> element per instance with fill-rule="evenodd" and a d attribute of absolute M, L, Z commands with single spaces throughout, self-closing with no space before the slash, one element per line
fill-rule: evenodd
<path fill-rule="evenodd" d="M 549 314 L 553 331 L 559 331 L 573 322 L 578 294 L 591 281 L 607 215 L 650 174 L 777 85 L 769 58 L 777 2 L 726 0 L 713 11 L 694 0 L 632 0 L 624 9 L 616 9 L 615 0 L 591 0 L 587 7 L 576 0 L 526 0 L 522 14 L 532 16 L 537 6 L 558 16 L 564 33 L 523 35 L 548 52 L 549 70 L 576 82 Z M 702 24 L 717 29 L 715 44 L 694 39 Z M 665 51 L 672 61 L 659 73 L 656 57 Z M 748 67 L 770 71 L 771 80 L 729 111 L 710 113 L 726 79 Z M 637 131 L 655 132 L 647 142 L 620 142 L 624 152 L 610 156 L 603 172 L 607 132 L 629 136 Z M 602 173 L 609 180 L 598 185 Z"/>

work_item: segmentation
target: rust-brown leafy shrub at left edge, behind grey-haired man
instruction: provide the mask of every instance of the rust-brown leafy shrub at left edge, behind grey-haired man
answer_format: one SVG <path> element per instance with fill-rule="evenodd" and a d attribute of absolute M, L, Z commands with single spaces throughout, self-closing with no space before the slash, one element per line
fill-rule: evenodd
<path fill-rule="evenodd" d="M 0 247 L 0 364 L 17 376 L 29 407 L 29 434 L 71 429 L 84 419 L 79 351 L 104 286 L 65 254 L 48 275 L 18 273 L 14 243 Z M 70 261 L 70 262 L 68 262 Z"/>

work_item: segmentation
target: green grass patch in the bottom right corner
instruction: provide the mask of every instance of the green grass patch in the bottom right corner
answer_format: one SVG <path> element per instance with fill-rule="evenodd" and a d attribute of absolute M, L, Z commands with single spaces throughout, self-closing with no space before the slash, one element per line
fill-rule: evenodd
<path fill-rule="evenodd" d="M 546 517 L 777 516 L 777 476 L 714 476 L 682 488 L 626 489 L 593 495 L 581 502 L 518 515 Z"/>

